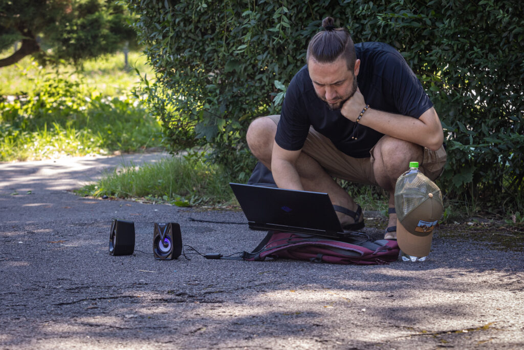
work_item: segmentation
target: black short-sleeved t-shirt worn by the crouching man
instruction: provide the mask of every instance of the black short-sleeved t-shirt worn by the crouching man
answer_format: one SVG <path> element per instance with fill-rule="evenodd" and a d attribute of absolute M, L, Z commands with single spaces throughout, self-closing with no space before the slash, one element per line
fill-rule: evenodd
<path fill-rule="evenodd" d="M 361 43 L 355 45 L 355 51 L 361 60 L 358 88 L 370 108 L 419 118 L 433 106 L 419 79 L 397 50 L 384 43 Z M 312 125 L 345 154 L 369 157 L 369 150 L 384 134 L 358 124 L 358 139 L 353 140 L 354 124 L 340 111 L 331 111 L 316 96 L 308 67 L 304 66 L 286 91 L 275 140 L 285 150 L 300 150 Z"/>

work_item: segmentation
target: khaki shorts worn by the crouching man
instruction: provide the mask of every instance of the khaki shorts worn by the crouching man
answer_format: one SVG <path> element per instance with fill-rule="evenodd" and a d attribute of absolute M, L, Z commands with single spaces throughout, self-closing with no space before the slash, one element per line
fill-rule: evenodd
<path fill-rule="evenodd" d="M 269 115 L 272 121 L 278 125 L 280 115 Z M 309 128 L 308 138 L 305 140 L 302 152 L 312 157 L 314 160 L 326 169 L 326 171 L 337 178 L 347 181 L 377 185 L 373 171 L 373 147 L 369 151 L 368 158 L 354 158 L 339 151 L 335 145 L 311 126 Z M 432 151 L 424 147 L 422 163 L 419 164 L 420 171 L 434 180 L 444 171 L 446 164 L 446 151 L 441 146 L 440 149 Z"/>

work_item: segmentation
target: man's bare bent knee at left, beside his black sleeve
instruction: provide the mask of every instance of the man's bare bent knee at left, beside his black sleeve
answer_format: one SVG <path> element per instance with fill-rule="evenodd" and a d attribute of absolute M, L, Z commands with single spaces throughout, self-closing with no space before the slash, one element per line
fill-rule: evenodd
<path fill-rule="evenodd" d="M 255 119 L 249 125 L 246 133 L 246 141 L 249 150 L 259 160 L 266 160 L 271 155 L 277 125 L 267 116 Z"/>

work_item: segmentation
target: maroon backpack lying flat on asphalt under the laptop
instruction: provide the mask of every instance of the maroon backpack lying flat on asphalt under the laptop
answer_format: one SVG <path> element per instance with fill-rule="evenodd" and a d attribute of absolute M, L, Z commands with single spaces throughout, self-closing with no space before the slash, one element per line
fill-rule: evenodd
<path fill-rule="evenodd" d="M 396 261 L 399 254 L 397 241 L 376 241 L 355 232 L 346 242 L 329 238 L 269 231 L 252 252 L 243 252 L 242 258 L 261 261 L 266 258 L 309 260 L 335 264 L 377 265 Z"/>

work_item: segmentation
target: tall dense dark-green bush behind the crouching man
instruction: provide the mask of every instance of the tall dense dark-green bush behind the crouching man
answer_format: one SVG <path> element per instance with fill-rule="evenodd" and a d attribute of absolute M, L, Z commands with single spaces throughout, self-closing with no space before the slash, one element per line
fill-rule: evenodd
<path fill-rule="evenodd" d="M 508 1 L 365 2 L 129 0 L 156 71 L 149 104 L 172 150 L 208 145 L 247 174 L 248 124 L 278 113 L 321 19 L 356 43 L 396 47 L 432 98 L 449 162 L 447 196 L 493 208 L 523 206 L 524 4 Z M 177 113 L 175 113 L 177 112 Z"/>

